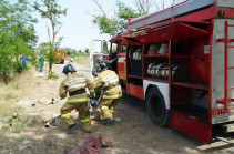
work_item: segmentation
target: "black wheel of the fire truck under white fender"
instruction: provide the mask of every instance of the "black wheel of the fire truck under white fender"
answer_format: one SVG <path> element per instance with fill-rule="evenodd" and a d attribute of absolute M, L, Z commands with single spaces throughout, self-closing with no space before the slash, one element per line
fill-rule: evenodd
<path fill-rule="evenodd" d="M 146 97 L 147 113 L 151 120 L 159 126 L 167 126 L 170 110 L 165 107 L 165 101 L 156 86 L 150 89 Z"/>

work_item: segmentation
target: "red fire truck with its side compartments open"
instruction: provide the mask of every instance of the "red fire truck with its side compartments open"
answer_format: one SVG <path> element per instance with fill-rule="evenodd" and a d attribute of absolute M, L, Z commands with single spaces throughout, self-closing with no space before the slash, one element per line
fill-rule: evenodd
<path fill-rule="evenodd" d="M 214 125 L 234 131 L 234 0 L 186 0 L 125 30 L 110 40 L 112 70 L 153 122 L 204 143 Z"/>

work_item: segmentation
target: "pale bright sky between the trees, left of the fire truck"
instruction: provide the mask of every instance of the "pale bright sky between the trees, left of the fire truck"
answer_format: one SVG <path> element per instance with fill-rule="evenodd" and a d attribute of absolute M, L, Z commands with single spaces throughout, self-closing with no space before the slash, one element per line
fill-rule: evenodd
<path fill-rule="evenodd" d="M 99 1 L 108 13 L 113 13 L 113 10 L 116 9 L 116 0 Z M 129 0 L 125 1 L 124 3 L 130 3 Z M 110 40 L 110 35 L 101 34 L 99 28 L 92 23 L 93 16 L 91 14 L 99 14 L 101 12 L 92 0 L 58 0 L 58 2 L 62 8 L 68 8 L 67 16 L 61 18 L 63 23 L 59 32 L 59 35 L 63 37 L 61 48 L 84 50 L 90 48 L 91 39 Z M 39 43 L 48 42 L 47 24 L 50 25 L 49 21 L 41 19 L 37 12 L 34 12 L 34 16 L 39 20 L 35 24 Z"/>

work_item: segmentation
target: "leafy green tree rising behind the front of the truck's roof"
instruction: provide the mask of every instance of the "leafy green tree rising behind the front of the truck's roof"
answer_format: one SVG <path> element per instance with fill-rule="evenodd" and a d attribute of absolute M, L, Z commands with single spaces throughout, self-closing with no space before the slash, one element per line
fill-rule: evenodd
<path fill-rule="evenodd" d="M 118 1 L 116 13 L 113 17 L 108 17 L 99 2 L 96 0 L 93 0 L 93 2 L 100 8 L 102 12 L 102 14 L 93 16 L 93 23 L 99 27 L 101 33 L 106 33 L 109 35 L 114 35 L 115 33 L 120 32 L 123 28 L 124 20 L 129 18 L 136 18 L 146 13 L 135 11 L 130 7 L 126 7 L 123 2 Z"/>

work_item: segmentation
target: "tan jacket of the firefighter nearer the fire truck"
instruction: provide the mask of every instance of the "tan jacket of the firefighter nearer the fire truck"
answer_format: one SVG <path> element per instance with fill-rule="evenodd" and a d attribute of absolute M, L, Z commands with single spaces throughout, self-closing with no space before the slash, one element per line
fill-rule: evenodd
<path fill-rule="evenodd" d="M 114 71 L 104 70 L 98 74 L 94 82 L 94 89 L 103 88 L 103 99 L 119 99 L 122 96 L 122 90 L 119 85 L 119 76 Z"/>

